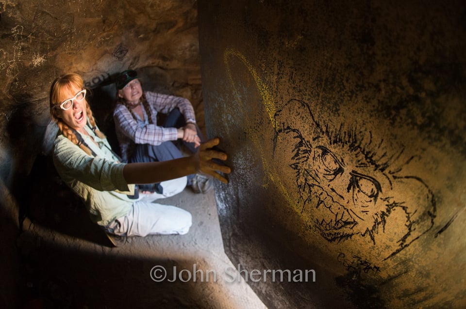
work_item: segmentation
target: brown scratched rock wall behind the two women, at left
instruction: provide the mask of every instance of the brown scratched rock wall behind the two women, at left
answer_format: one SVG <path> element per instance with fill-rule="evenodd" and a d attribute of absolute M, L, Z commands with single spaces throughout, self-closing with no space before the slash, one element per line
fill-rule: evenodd
<path fill-rule="evenodd" d="M 191 100 L 204 129 L 197 2 L 0 0 L 0 34 L 0 307 L 17 308 L 27 284 L 17 237 L 31 203 L 28 175 L 36 156 L 50 153 L 57 130 L 52 81 L 81 74 L 112 146 L 112 77 L 127 68 L 139 72 L 144 89 Z"/>

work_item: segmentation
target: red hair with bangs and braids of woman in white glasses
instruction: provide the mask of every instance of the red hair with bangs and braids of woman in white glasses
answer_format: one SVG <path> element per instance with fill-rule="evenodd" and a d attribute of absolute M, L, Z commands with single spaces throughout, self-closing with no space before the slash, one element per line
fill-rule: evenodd
<path fill-rule="evenodd" d="M 71 140 L 73 144 L 78 145 L 86 154 L 92 155 L 92 151 L 78 139 L 75 134 L 75 130 L 70 128 L 58 114 L 58 110 L 60 109 L 59 104 L 61 103 L 60 100 L 63 99 L 65 89 L 69 89 L 71 86 L 83 89 L 83 78 L 78 74 L 68 73 L 58 77 L 53 81 L 52 87 L 50 89 L 50 116 L 52 120 L 57 123 L 58 128 L 67 139 Z M 85 102 L 87 117 L 89 118 L 89 123 L 93 127 L 93 131 L 100 139 L 105 139 L 105 135 L 100 132 L 99 129 L 97 129 L 96 120 L 92 115 L 89 103 L 87 100 Z"/>

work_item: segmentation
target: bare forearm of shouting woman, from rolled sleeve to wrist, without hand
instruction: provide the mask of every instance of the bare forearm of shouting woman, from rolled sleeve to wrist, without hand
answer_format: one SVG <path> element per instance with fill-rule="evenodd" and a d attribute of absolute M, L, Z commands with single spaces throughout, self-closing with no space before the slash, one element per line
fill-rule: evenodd
<path fill-rule="evenodd" d="M 128 184 L 151 184 L 175 179 L 198 170 L 192 157 L 163 162 L 129 163 L 123 168 L 123 176 Z"/>

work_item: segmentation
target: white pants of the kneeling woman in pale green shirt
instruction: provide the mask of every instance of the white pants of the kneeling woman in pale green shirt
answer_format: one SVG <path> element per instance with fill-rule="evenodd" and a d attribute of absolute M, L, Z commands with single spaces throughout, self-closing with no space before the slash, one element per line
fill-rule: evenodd
<path fill-rule="evenodd" d="M 160 185 L 163 187 L 163 194 L 154 193 L 140 197 L 133 203 L 131 211 L 126 216 L 119 217 L 108 225 L 107 232 L 126 236 L 186 234 L 192 225 L 192 216 L 189 212 L 175 206 L 151 202 L 183 191 L 186 177 L 164 181 Z"/>

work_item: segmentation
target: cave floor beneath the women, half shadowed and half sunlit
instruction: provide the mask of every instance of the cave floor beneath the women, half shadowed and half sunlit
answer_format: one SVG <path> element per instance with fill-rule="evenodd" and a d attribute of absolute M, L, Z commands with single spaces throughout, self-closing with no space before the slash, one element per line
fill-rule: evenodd
<path fill-rule="evenodd" d="M 191 212 L 187 234 L 133 237 L 113 247 L 72 192 L 45 184 L 32 193 L 18 248 L 24 301 L 46 307 L 25 308 L 266 308 L 244 280 L 233 278 L 214 191 L 185 188 L 157 200 Z M 155 282 L 151 271 L 162 275 L 161 267 L 166 279 Z"/>

